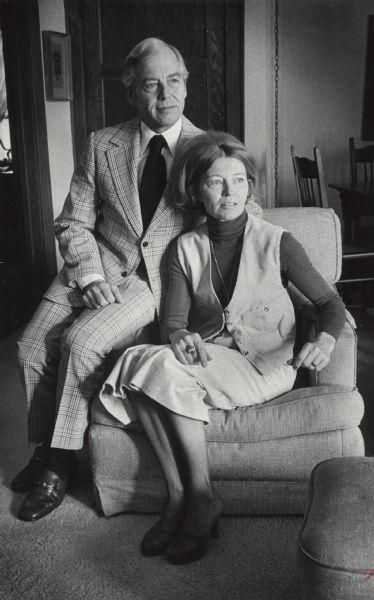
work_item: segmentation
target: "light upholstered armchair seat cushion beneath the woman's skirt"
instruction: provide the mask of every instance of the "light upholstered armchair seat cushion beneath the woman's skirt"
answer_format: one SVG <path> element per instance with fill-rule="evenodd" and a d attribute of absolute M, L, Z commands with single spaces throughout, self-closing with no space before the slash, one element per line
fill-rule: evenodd
<path fill-rule="evenodd" d="M 259 442 L 294 435 L 356 427 L 363 416 L 363 400 L 356 389 L 323 385 L 292 390 L 278 398 L 233 410 L 211 409 L 208 441 Z M 96 399 L 91 420 L 124 428 Z M 139 430 L 138 424 L 132 429 Z"/>

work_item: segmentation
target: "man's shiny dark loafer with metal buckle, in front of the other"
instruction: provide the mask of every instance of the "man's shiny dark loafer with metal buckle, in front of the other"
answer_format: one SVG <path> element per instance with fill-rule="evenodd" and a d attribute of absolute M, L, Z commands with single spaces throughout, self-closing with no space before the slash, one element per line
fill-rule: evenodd
<path fill-rule="evenodd" d="M 46 469 L 35 481 L 18 512 L 21 521 L 36 521 L 60 506 L 68 487 L 68 477 Z"/>

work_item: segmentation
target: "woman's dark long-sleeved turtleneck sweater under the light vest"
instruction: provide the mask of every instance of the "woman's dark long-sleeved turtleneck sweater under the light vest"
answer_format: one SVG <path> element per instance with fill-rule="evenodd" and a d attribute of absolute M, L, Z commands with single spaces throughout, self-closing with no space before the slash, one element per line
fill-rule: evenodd
<path fill-rule="evenodd" d="M 218 221 L 211 216 L 207 218 L 214 254 L 212 283 L 223 308 L 229 303 L 235 287 L 247 218 L 247 213 L 232 221 Z M 288 232 L 284 232 L 281 237 L 280 267 L 284 286 L 288 282 L 293 283 L 314 304 L 319 331 L 325 331 L 337 339 L 345 322 L 344 304 L 315 270 L 302 245 Z M 189 282 L 180 266 L 174 245 L 169 258 L 169 288 L 161 323 L 161 339 L 164 343 L 168 343 L 169 335 L 174 331 L 188 329 L 191 301 Z"/>

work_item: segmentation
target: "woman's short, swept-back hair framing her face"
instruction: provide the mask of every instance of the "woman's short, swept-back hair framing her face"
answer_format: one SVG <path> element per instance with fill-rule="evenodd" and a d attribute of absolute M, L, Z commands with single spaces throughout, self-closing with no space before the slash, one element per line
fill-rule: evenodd
<path fill-rule="evenodd" d="M 217 158 L 236 158 L 243 163 L 247 179 L 255 184 L 255 164 L 247 148 L 223 131 L 206 131 L 186 142 L 176 157 L 171 177 L 171 203 L 177 208 L 201 208 L 199 182 Z"/>

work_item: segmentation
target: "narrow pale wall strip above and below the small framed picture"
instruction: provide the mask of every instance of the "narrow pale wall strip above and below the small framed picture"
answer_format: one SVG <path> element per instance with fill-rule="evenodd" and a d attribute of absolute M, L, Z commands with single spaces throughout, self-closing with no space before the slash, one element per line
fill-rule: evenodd
<path fill-rule="evenodd" d="M 66 33 L 63 0 L 39 0 L 40 30 Z M 56 217 L 69 191 L 74 169 L 69 101 L 46 101 L 53 214 Z M 57 251 L 58 267 L 62 266 Z"/>

